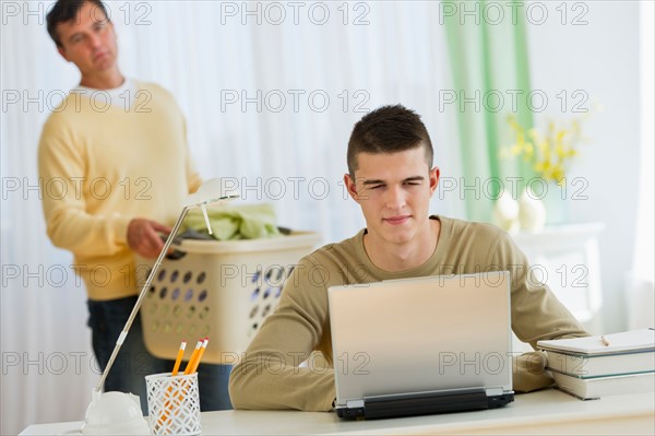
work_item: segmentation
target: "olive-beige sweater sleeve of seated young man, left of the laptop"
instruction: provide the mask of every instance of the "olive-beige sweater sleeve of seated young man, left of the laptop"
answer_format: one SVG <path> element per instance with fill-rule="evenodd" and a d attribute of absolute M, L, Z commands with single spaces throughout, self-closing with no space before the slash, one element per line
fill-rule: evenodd
<path fill-rule="evenodd" d="M 332 410 L 333 368 L 299 366 L 317 350 L 327 320 L 325 283 L 310 278 L 314 271 L 307 258 L 299 262 L 278 308 L 234 367 L 229 394 L 235 409 Z"/>

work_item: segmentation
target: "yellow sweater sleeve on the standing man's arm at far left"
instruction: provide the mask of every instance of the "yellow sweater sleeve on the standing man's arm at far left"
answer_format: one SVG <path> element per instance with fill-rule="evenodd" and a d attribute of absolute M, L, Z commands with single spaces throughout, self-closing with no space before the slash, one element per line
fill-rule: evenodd
<path fill-rule="evenodd" d="M 44 126 L 38 172 L 47 233 L 55 246 L 87 257 L 124 249 L 132 217 L 118 212 L 87 212 L 84 150 L 60 119 L 50 118 Z"/>

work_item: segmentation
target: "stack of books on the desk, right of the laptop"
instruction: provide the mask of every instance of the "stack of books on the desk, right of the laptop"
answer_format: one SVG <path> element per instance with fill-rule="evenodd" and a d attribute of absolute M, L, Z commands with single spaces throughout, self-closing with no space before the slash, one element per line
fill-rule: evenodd
<path fill-rule="evenodd" d="M 655 391 L 655 329 L 538 341 L 559 389 L 583 400 Z"/>

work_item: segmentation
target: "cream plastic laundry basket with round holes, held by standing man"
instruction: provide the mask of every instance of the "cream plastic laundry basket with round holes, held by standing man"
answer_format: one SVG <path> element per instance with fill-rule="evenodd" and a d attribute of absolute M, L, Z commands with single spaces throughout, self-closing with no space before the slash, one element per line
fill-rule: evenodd
<path fill-rule="evenodd" d="M 209 337 L 203 362 L 234 364 L 279 302 L 300 258 L 319 243 L 311 232 L 266 239 L 183 240 L 166 258 L 141 309 L 145 345 L 175 358 L 181 341 Z M 141 283 L 153 262 L 138 260 Z"/>

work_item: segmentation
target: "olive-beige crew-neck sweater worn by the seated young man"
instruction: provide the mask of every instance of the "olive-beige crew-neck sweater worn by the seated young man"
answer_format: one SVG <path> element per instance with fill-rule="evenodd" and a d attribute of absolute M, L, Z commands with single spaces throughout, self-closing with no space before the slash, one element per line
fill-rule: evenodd
<path fill-rule="evenodd" d="M 587 335 L 552 292 L 538 285 L 526 258 L 504 232 L 488 224 L 433 219 L 441 222 L 437 248 L 425 264 L 408 271 L 388 272 L 372 264 L 364 248 L 365 231 L 301 259 L 285 284 L 278 308 L 233 369 L 233 405 L 332 409 L 333 369 L 312 370 L 298 364 L 313 351 L 332 361 L 326 288 L 333 285 L 503 269 L 511 272 L 512 329 L 519 339 L 535 347 L 541 339 Z M 544 373 L 545 362 L 540 352 L 519 356 L 514 389 L 528 391 L 549 386 L 552 380 Z"/>

